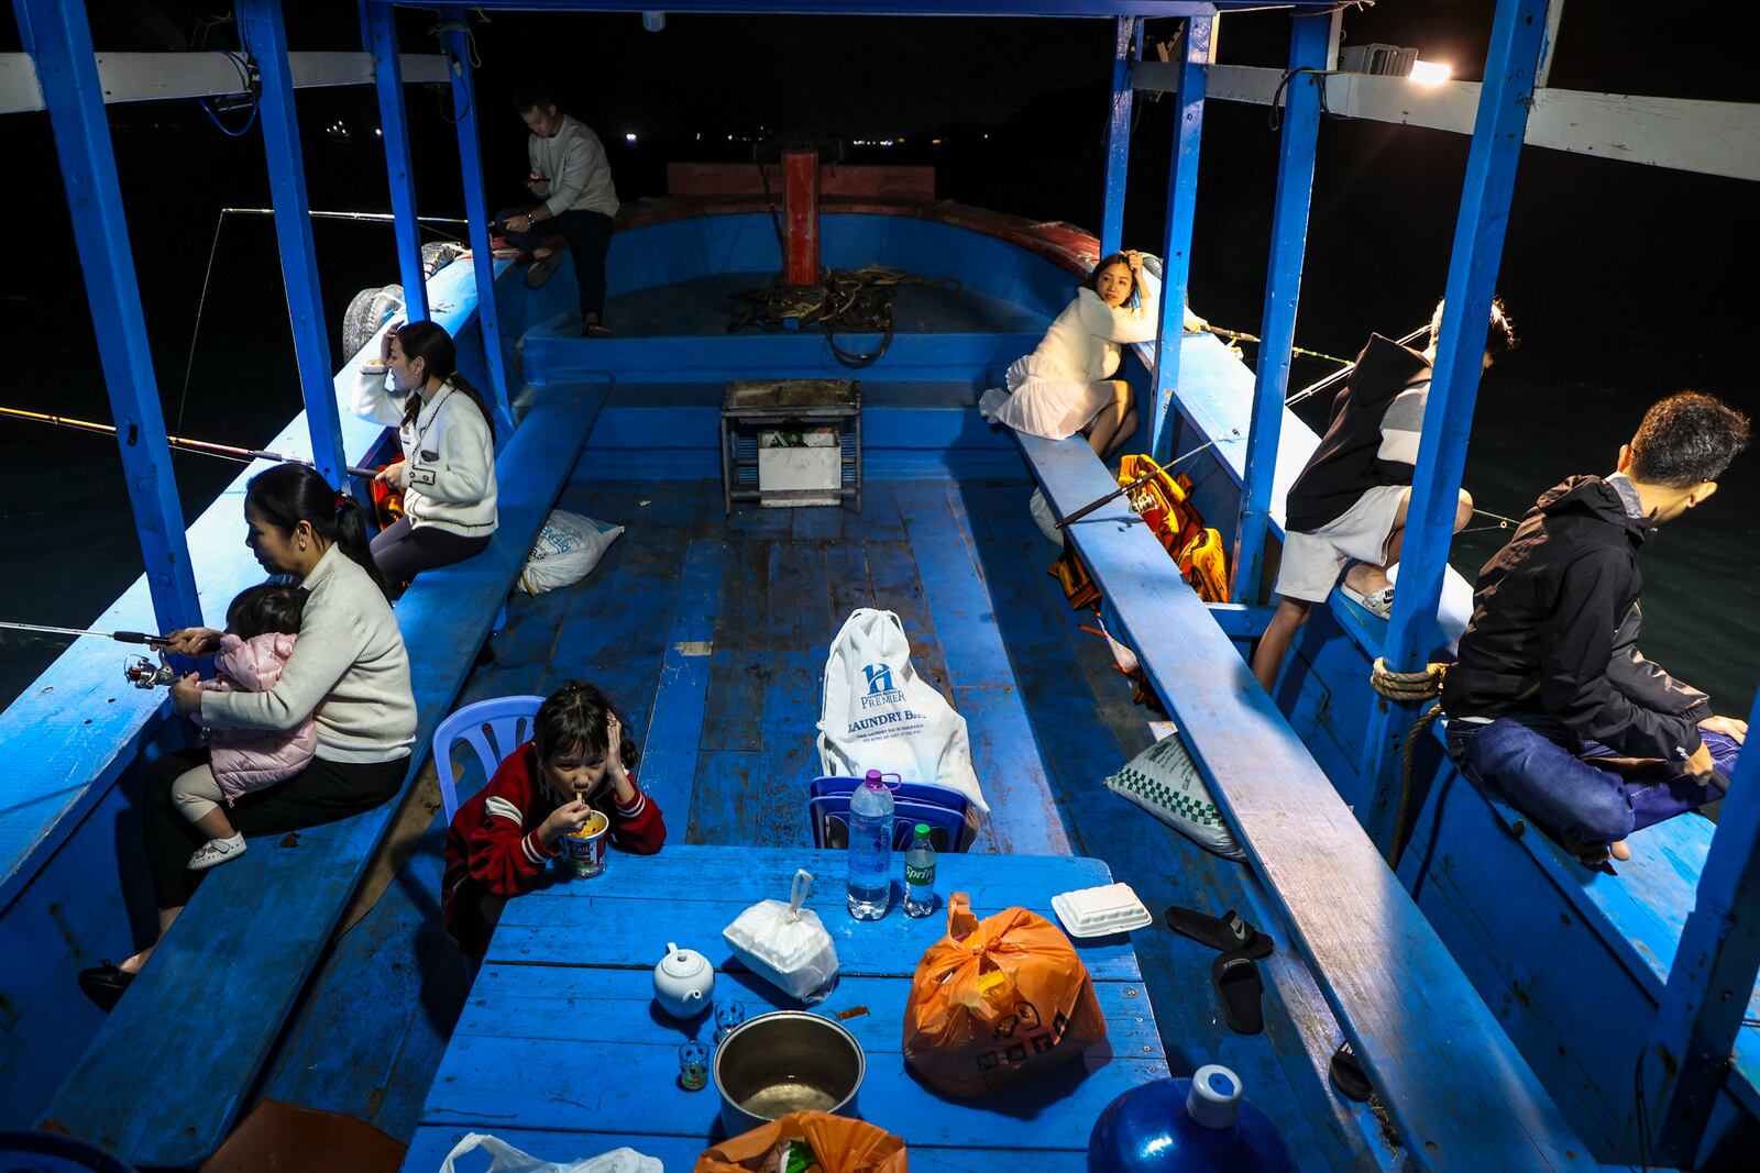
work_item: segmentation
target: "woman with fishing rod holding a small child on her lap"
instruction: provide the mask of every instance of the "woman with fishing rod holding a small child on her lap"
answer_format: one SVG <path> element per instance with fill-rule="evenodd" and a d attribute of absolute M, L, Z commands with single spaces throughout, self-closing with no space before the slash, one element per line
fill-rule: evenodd
<path fill-rule="evenodd" d="M 204 869 L 243 853 L 250 837 L 334 823 L 398 793 L 415 740 L 410 659 L 361 506 L 312 468 L 278 464 L 250 480 L 245 524 L 262 568 L 290 577 L 299 591 L 269 605 L 246 591 L 229 610 L 231 635 L 183 628 L 169 637 L 167 651 L 222 652 L 222 668 L 232 665 L 236 675 L 204 688 L 192 672 L 171 688 L 178 712 L 211 730 L 215 749 L 171 753 L 146 770 L 146 858 L 160 939 Z M 308 723 L 317 733 L 310 758 L 299 747 Z M 222 742 L 250 744 L 239 737 L 248 733 L 266 739 L 260 758 L 220 753 Z M 151 953 L 148 946 L 120 965 L 86 969 L 79 985 L 107 1009 Z"/>

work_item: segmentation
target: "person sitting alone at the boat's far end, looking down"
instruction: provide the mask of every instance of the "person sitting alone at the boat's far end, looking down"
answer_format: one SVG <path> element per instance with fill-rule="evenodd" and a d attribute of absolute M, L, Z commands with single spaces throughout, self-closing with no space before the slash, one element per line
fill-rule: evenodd
<path fill-rule="evenodd" d="M 549 248 L 546 237 L 563 237 L 581 294 L 581 334 L 607 338 L 611 331 L 600 317 L 605 313 L 605 253 L 616 227 L 618 188 L 611 181 L 605 146 L 591 127 L 558 111 L 547 90 L 521 91 L 514 106 L 532 132 L 526 190 L 539 202 L 495 213 L 493 227 L 509 244 L 532 253 L 528 288 L 544 285 L 561 264 L 561 253 Z"/>

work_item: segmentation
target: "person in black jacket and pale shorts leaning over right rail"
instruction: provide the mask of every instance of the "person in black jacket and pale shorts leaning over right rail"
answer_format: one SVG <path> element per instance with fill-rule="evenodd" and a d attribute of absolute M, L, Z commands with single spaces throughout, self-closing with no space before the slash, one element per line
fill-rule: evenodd
<path fill-rule="evenodd" d="M 1325 436 L 1308 457 L 1285 499 L 1283 561 L 1278 565 L 1278 610 L 1253 651 L 1253 675 L 1265 691 L 1278 682 L 1295 631 L 1324 603 L 1339 573 L 1345 596 L 1385 619 L 1394 605 L 1387 568 L 1399 561 L 1412 505 L 1412 471 L 1419 459 L 1424 408 L 1441 302 L 1431 317 L 1431 341 L 1422 352 L 1371 334 L 1350 380 L 1332 401 Z M 1503 302 L 1491 302 L 1485 357 L 1480 371 L 1515 346 Z M 1473 498 L 1461 489 L 1454 528 L 1473 515 Z M 1355 566 L 1346 565 L 1355 559 Z"/>

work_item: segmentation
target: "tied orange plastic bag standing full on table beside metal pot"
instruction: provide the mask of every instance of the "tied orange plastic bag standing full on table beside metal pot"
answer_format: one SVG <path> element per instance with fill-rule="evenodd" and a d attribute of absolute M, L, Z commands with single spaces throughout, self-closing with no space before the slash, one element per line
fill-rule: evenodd
<path fill-rule="evenodd" d="M 1010 907 L 982 922 L 947 902 L 947 936 L 917 962 L 905 1062 L 949 1096 L 980 1096 L 1049 1071 L 1105 1038 L 1095 983 L 1049 920 Z"/>

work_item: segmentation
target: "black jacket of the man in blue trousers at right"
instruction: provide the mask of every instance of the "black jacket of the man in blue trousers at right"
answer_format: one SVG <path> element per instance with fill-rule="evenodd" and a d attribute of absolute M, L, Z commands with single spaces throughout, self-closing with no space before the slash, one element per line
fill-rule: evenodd
<path fill-rule="evenodd" d="M 1544 712 L 1633 758 L 1697 751 L 1711 702 L 1637 651 L 1647 531 L 1600 477 L 1547 489 L 1478 572 L 1443 712 Z"/>

